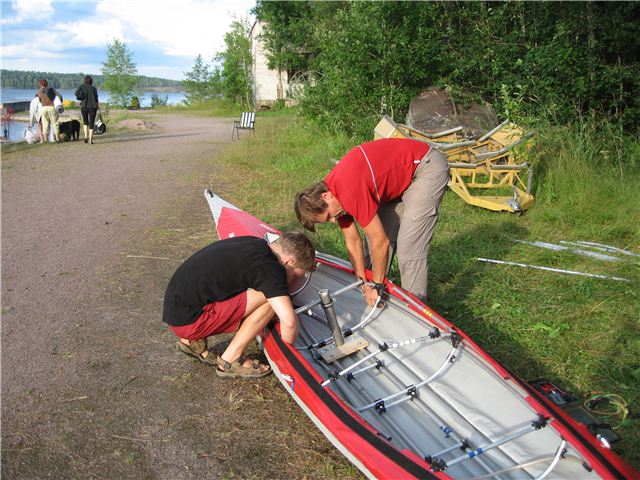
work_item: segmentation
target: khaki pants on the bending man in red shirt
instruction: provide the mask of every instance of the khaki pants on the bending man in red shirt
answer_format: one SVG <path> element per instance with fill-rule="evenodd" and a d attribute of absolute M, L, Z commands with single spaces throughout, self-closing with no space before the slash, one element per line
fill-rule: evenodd
<path fill-rule="evenodd" d="M 418 165 L 414 180 L 402 197 L 378 208 L 378 216 L 392 247 L 387 271 L 397 250 L 402 288 L 422 301 L 427 300 L 427 257 L 448 181 L 447 158 L 432 148 Z M 370 268 L 368 244 L 365 245 L 365 258 Z"/>

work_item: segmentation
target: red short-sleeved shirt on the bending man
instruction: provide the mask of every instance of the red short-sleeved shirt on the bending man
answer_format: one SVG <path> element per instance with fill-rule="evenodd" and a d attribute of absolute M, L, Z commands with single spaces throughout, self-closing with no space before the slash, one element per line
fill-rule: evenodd
<path fill-rule="evenodd" d="M 429 145 L 406 138 L 385 138 L 351 149 L 324 182 L 349 215 L 338 219 L 346 228 L 355 219 L 369 225 L 380 205 L 402 196 Z"/>

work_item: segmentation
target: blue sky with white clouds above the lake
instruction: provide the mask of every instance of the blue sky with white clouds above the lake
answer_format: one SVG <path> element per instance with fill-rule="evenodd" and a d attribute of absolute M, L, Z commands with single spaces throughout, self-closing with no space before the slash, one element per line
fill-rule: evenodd
<path fill-rule="evenodd" d="M 2 68 L 99 75 L 115 38 L 139 75 L 184 79 L 196 56 L 211 64 L 234 19 L 255 0 L 12 0 L 0 2 Z"/>

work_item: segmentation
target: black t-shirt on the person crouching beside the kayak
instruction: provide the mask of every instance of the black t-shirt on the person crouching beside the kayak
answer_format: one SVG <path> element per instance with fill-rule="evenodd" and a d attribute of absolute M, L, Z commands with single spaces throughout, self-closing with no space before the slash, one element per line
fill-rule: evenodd
<path fill-rule="evenodd" d="M 285 268 L 261 238 L 220 240 L 178 267 L 165 293 L 162 321 L 173 326 L 189 325 L 205 305 L 249 288 L 267 298 L 289 295 Z"/>

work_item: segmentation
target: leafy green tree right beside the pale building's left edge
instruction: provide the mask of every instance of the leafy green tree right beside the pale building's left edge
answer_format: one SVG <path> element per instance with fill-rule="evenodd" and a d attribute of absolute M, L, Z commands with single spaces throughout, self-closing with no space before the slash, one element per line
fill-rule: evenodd
<path fill-rule="evenodd" d="M 253 74 L 251 67 L 251 39 L 249 22 L 234 20 L 231 30 L 224 36 L 225 50 L 216 55 L 220 63 L 219 74 L 222 93 L 243 109 L 253 109 Z"/>

